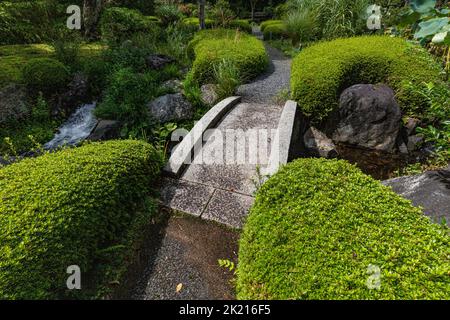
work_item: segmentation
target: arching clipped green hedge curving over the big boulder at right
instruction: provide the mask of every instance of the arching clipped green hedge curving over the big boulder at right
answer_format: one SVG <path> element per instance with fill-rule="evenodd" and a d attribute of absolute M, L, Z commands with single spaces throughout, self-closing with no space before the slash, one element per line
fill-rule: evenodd
<path fill-rule="evenodd" d="M 363 36 L 323 42 L 293 61 L 292 98 L 320 121 L 338 106 L 341 92 L 359 83 L 387 83 L 404 112 L 424 112 L 425 98 L 402 85 L 438 82 L 440 67 L 424 49 L 402 38 Z"/>

